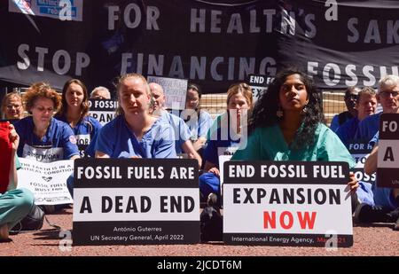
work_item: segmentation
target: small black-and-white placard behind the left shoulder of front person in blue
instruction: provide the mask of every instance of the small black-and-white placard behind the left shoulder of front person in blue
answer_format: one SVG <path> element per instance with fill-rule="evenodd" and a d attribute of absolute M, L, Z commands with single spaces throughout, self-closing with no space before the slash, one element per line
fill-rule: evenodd
<path fill-rule="evenodd" d="M 90 99 L 89 107 L 90 116 L 97 119 L 97 121 L 104 126 L 107 122 L 113 121 L 113 118 L 115 118 L 115 110 L 118 108 L 118 101 Z"/>

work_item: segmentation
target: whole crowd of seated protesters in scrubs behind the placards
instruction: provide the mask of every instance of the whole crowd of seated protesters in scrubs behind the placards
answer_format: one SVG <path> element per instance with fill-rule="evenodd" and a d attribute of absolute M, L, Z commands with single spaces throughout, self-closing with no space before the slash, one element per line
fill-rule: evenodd
<path fill-rule="evenodd" d="M 382 106 L 382 113 L 399 113 L 399 77 L 383 77 L 377 91 L 348 88 L 348 111 L 332 119 L 331 129 L 325 126 L 313 82 L 296 69 L 279 72 L 255 105 L 250 86 L 231 85 L 226 112 L 215 121 L 201 109 L 200 86 L 193 83 L 188 85 L 186 109 L 180 117 L 165 108 L 163 87 L 148 83 L 141 74 L 121 76 L 116 85 L 117 115 L 104 127 L 89 115 L 89 97 L 110 99 L 111 95 L 104 87 L 89 93 L 83 82 L 71 79 L 62 95 L 47 83 L 36 82 L 22 97 L 18 92 L 4 96 L 1 150 L 9 156 L 4 158 L 7 165 L 1 174 L 0 239 L 8 239 L 8 230 L 33 205 L 31 192 L 15 189 L 19 157 L 42 162 L 80 157 L 191 158 L 198 160 L 202 173 L 202 200 L 221 194 L 221 155 L 230 155 L 232 160 L 346 161 L 353 167 L 347 147 L 361 140 L 374 145 L 365 163 L 365 172 L 372 174 L 377 168 L 379 139 L 376 105 Z M 246 145 L 240 147 L 243 135 Z M 89 146 L 82 151 L 79 144 Z M 395 223 L 394 229 L 399 230 L 398 189 L 363 184 L 353 174 L 348 186 L 357 222 Z"/>

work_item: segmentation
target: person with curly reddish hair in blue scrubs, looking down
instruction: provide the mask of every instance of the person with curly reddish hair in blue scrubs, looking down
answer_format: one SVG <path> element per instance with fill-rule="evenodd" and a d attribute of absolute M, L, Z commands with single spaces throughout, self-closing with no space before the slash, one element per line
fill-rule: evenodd
<path fill-rule="evenodd" d="M 32 116 L 15 124 L 20 135 L 18 156 L 42 162 L 79 158 L 74 131 L 52 117 L 61 104 L 57 91 L 38 82 L 29 87 L 23 101 Z"/>

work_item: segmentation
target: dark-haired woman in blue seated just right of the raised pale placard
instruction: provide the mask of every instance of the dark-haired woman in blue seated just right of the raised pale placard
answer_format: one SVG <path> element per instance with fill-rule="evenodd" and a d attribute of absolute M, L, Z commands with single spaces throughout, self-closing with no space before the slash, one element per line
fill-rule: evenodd
<path fill-rule="evenodd" d="M 207 142 L 207 130 L 213 120 L 210 114 L 200 108 L 200 86 L 194 83 L 188 85 L 185 109 L 181 114 L 191 131 L 192 145 L 196 151 L 200 151 Z"/>

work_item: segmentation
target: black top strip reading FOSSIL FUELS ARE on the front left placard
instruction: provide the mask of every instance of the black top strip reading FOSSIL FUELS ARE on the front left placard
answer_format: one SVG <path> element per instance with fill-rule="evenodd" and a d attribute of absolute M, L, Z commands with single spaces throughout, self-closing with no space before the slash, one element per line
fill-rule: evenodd
<path fill-rule="evenodd" d="M 193 159 L 74 160 L 74 188 L 198 188 Z"/>

